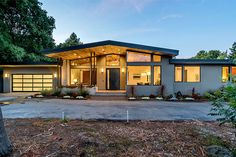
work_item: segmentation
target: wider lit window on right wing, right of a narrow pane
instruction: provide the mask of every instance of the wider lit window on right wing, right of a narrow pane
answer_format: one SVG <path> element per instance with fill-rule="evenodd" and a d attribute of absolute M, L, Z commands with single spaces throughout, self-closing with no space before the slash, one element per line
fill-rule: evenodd
<path fill-rule="evenodd" d="M 184 82 L 200 82 L 200 66 L 185 66 Z"/>

